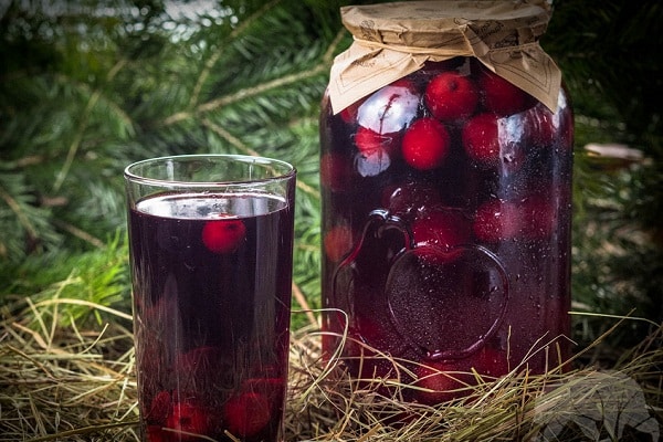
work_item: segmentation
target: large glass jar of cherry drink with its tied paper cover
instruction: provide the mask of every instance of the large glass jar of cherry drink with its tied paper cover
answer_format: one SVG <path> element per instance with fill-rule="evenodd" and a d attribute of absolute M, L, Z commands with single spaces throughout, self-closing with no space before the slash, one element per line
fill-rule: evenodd
<path fill-rule="evenodd" d="M 344 8 L 355 43 L 320 115 L 324 349 L 436 391 L 407 393 L 421 402 L 459 387 L 438 370 L 543 372 L 569 352 L 573 127 L 537 41 L 550 10 L 461 3 Z"/>

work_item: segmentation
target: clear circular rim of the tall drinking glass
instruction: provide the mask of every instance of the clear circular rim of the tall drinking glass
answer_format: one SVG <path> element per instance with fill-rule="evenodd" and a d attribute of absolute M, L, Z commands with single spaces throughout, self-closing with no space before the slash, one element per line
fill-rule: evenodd
<path fill-rule="evenodd" d="M 224 159 L 235 160 L 241 164 L 262 164 L 262 165 L 277 165 L 284 168 L 282 173 L 277 173 L 266 178 L 250 178 L 250 179 L 228 179 L 228 180 L 214 180 L 214 181 L 182 181 L 176 179 L 162 179 L 162 178 L 149 178 L 138 175 L 133 171 L 136 167 L 147 165 L 150 162 L 165 162 L 167 160 L 204 160 L 204 159 Z M 270 182 L 278 180 L 287 180 L 296 175 L 296 168 L 284 160 L 254 156 L 254 155 L 241 155 L 241 154 L 186 154 L 186 155 L 167 155 L 162 157 L 146 158 L 139 161 L 131 162 L 124 169 L 124 177 L 128 181 L 152 186 L 173 185 L 182 187 L 217 187 L 217 186 L 241 186 L 241 185 L 255 185 L 260 182 Z"/>

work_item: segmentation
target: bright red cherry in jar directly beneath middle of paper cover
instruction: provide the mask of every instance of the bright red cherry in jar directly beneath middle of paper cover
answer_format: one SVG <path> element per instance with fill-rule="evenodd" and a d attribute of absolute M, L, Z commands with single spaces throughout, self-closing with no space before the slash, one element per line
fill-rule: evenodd
<path fill-rule="evenodd" d="M 472 115 L 478 102 L 478 93 L 469 77 L 448 71 L 430 81 L 424 101 L 435 118 L 450 122 Z"/>

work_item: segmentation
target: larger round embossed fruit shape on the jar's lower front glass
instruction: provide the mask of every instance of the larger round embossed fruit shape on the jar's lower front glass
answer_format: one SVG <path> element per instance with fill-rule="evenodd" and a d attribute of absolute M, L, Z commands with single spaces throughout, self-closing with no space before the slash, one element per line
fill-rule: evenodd
<path fill-rule="evenodd" d="M 422 246 L 399 256 L 385 292 L 396 328 L 420 355 L 455 359 L 481 348 L 499 326 L 508 277 L 484 248 Z"/>

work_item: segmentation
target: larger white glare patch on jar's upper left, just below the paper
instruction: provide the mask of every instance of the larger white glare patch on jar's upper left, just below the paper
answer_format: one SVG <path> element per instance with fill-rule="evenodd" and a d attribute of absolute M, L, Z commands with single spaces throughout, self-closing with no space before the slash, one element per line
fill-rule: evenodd
<path fill-rule="evenodd" d="M 378 134 L 393 134 L 415 118 L 419 94 L 414 84 L 400 78 L 370 95 L 359 106 L 357 122 Z"/>

